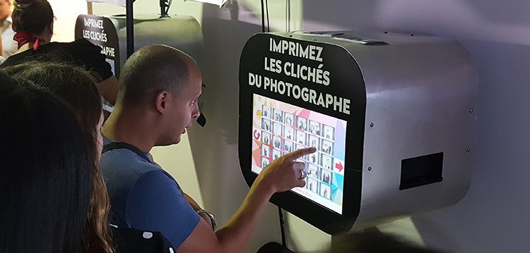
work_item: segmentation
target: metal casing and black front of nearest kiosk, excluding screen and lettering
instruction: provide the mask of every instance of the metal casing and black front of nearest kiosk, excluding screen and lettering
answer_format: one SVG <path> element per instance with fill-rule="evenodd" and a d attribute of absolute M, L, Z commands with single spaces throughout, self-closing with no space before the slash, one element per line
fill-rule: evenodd
<path fill-rule="evenodd" d="M 287 46 L 275 51 L 272 41 Z M 307 47 L 319 47 L 322 61 L 300 57 L 297 50 Z M 271 71 L 264 66 L 270 58 L 329 70 L 331 82 Z M 249 75 L 349 99 L 349 111 L 251 85 Z M 353 31 L 251 37 L 240 59 L 239 156 L 248 185 L 257 178 L 251 171 L 254 94 L 347 122 L 342 214 L 292 191 L 271 198 L 326 233 L 456 204 L 469 187 L 477 78 L 469 54 L 452 39 Z"/>

